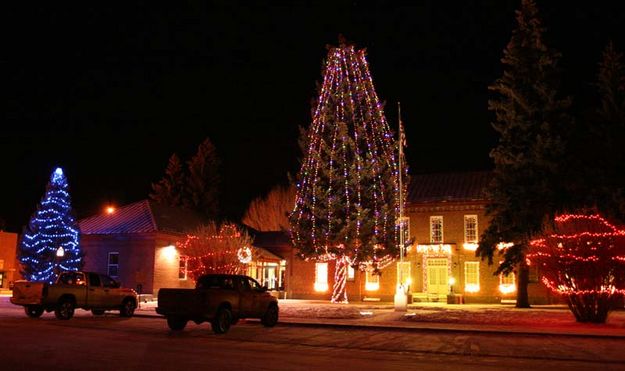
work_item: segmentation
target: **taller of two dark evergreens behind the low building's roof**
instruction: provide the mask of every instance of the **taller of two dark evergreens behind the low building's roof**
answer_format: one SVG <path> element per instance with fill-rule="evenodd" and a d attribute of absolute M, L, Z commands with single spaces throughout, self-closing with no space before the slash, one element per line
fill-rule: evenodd
<path fill-rule="evenodd" d="M 183 205 L 197 210 L 211 220 L 218 214 L 219 159 L 215 146 L 206 138 L 187 162 L 188 175 Z"/>

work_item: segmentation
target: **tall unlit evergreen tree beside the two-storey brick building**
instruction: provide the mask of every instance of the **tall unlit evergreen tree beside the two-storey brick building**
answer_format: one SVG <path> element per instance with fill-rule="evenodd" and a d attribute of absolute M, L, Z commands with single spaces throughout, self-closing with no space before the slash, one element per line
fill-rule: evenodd
<path fill-rule="evenodd" d="M 518 269 L 517 307 L 529 307 L 529 268 L 525 254 L 532 236 L 566 204 L 562 159 L 570 119 L 568 99 L 557 96 L 560 54 L 547 48 L 534 1 L 523 0 L 517 27 L 504 50 L 504 73 L 489 87 L 499 144 L 491 151 L 495 163 L 486 212 L 491 217 L 477 254 L 492 264 L 497 245 L 503 251 L 496 274 Z"/>

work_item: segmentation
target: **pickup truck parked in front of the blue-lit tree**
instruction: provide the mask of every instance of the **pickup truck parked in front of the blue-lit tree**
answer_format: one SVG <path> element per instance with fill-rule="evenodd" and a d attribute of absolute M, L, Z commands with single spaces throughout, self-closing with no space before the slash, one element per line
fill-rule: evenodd
<path fill-rule="evenodd" d="M 40 317 L 44 311 L 68 320 L 75 308 L 102 315 L 106 310 L 119 310 L 122 317 L 132 317 L 137 307 L 137 293 L 121 288 L 109 276 L 93 272 L 62 272 L 54 284 L 17 281 L 11 303 L 24 307 L 26 315 Z"/>

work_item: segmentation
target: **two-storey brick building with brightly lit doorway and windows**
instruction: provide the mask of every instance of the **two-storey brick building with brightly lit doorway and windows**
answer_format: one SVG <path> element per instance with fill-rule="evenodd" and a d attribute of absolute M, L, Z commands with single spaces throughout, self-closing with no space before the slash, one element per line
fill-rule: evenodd
<path fill-rule="evenodd" d="M 451 293 L 466 303 L 514 300 L 516 275 L 494 275 L 496 264 L 489 266 L 475 256 L 479 236 L 488 225 L 484 190 L 490 176 L 489 172 L 411 176 L 404 223 L 413 244 L 407 256 L 402 263 L 390 263 L 380 276 L 350 269 L 348 298 L 392 301 L 401 272 L 414 301 L 445 301 Z M 330 298 L 334 262 L 293 258 L 290 265 L 289 297 Z M 557 300 L 535 270 L 528 289 L 531 303 Z"/>

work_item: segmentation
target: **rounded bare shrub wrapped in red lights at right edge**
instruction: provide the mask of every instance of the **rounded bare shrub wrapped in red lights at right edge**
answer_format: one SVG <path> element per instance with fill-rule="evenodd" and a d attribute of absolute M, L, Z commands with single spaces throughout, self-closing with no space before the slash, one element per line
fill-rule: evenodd
<path fill-rule="evenodd" d="M 604 323 L 625 295 L 625 230 L 599 215 L 560 215 L 527 255 L 578 322 Z"/>

